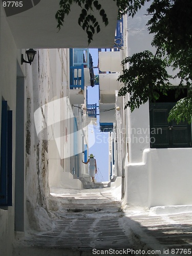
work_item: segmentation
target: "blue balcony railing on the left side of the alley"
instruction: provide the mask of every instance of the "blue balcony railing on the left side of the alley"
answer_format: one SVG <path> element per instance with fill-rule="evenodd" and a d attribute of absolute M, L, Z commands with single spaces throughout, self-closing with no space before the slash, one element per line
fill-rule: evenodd
<path fill-rule="evenodd" d="M 70 89 L 84 90 L 84 66 L 70 67 Z"/>

